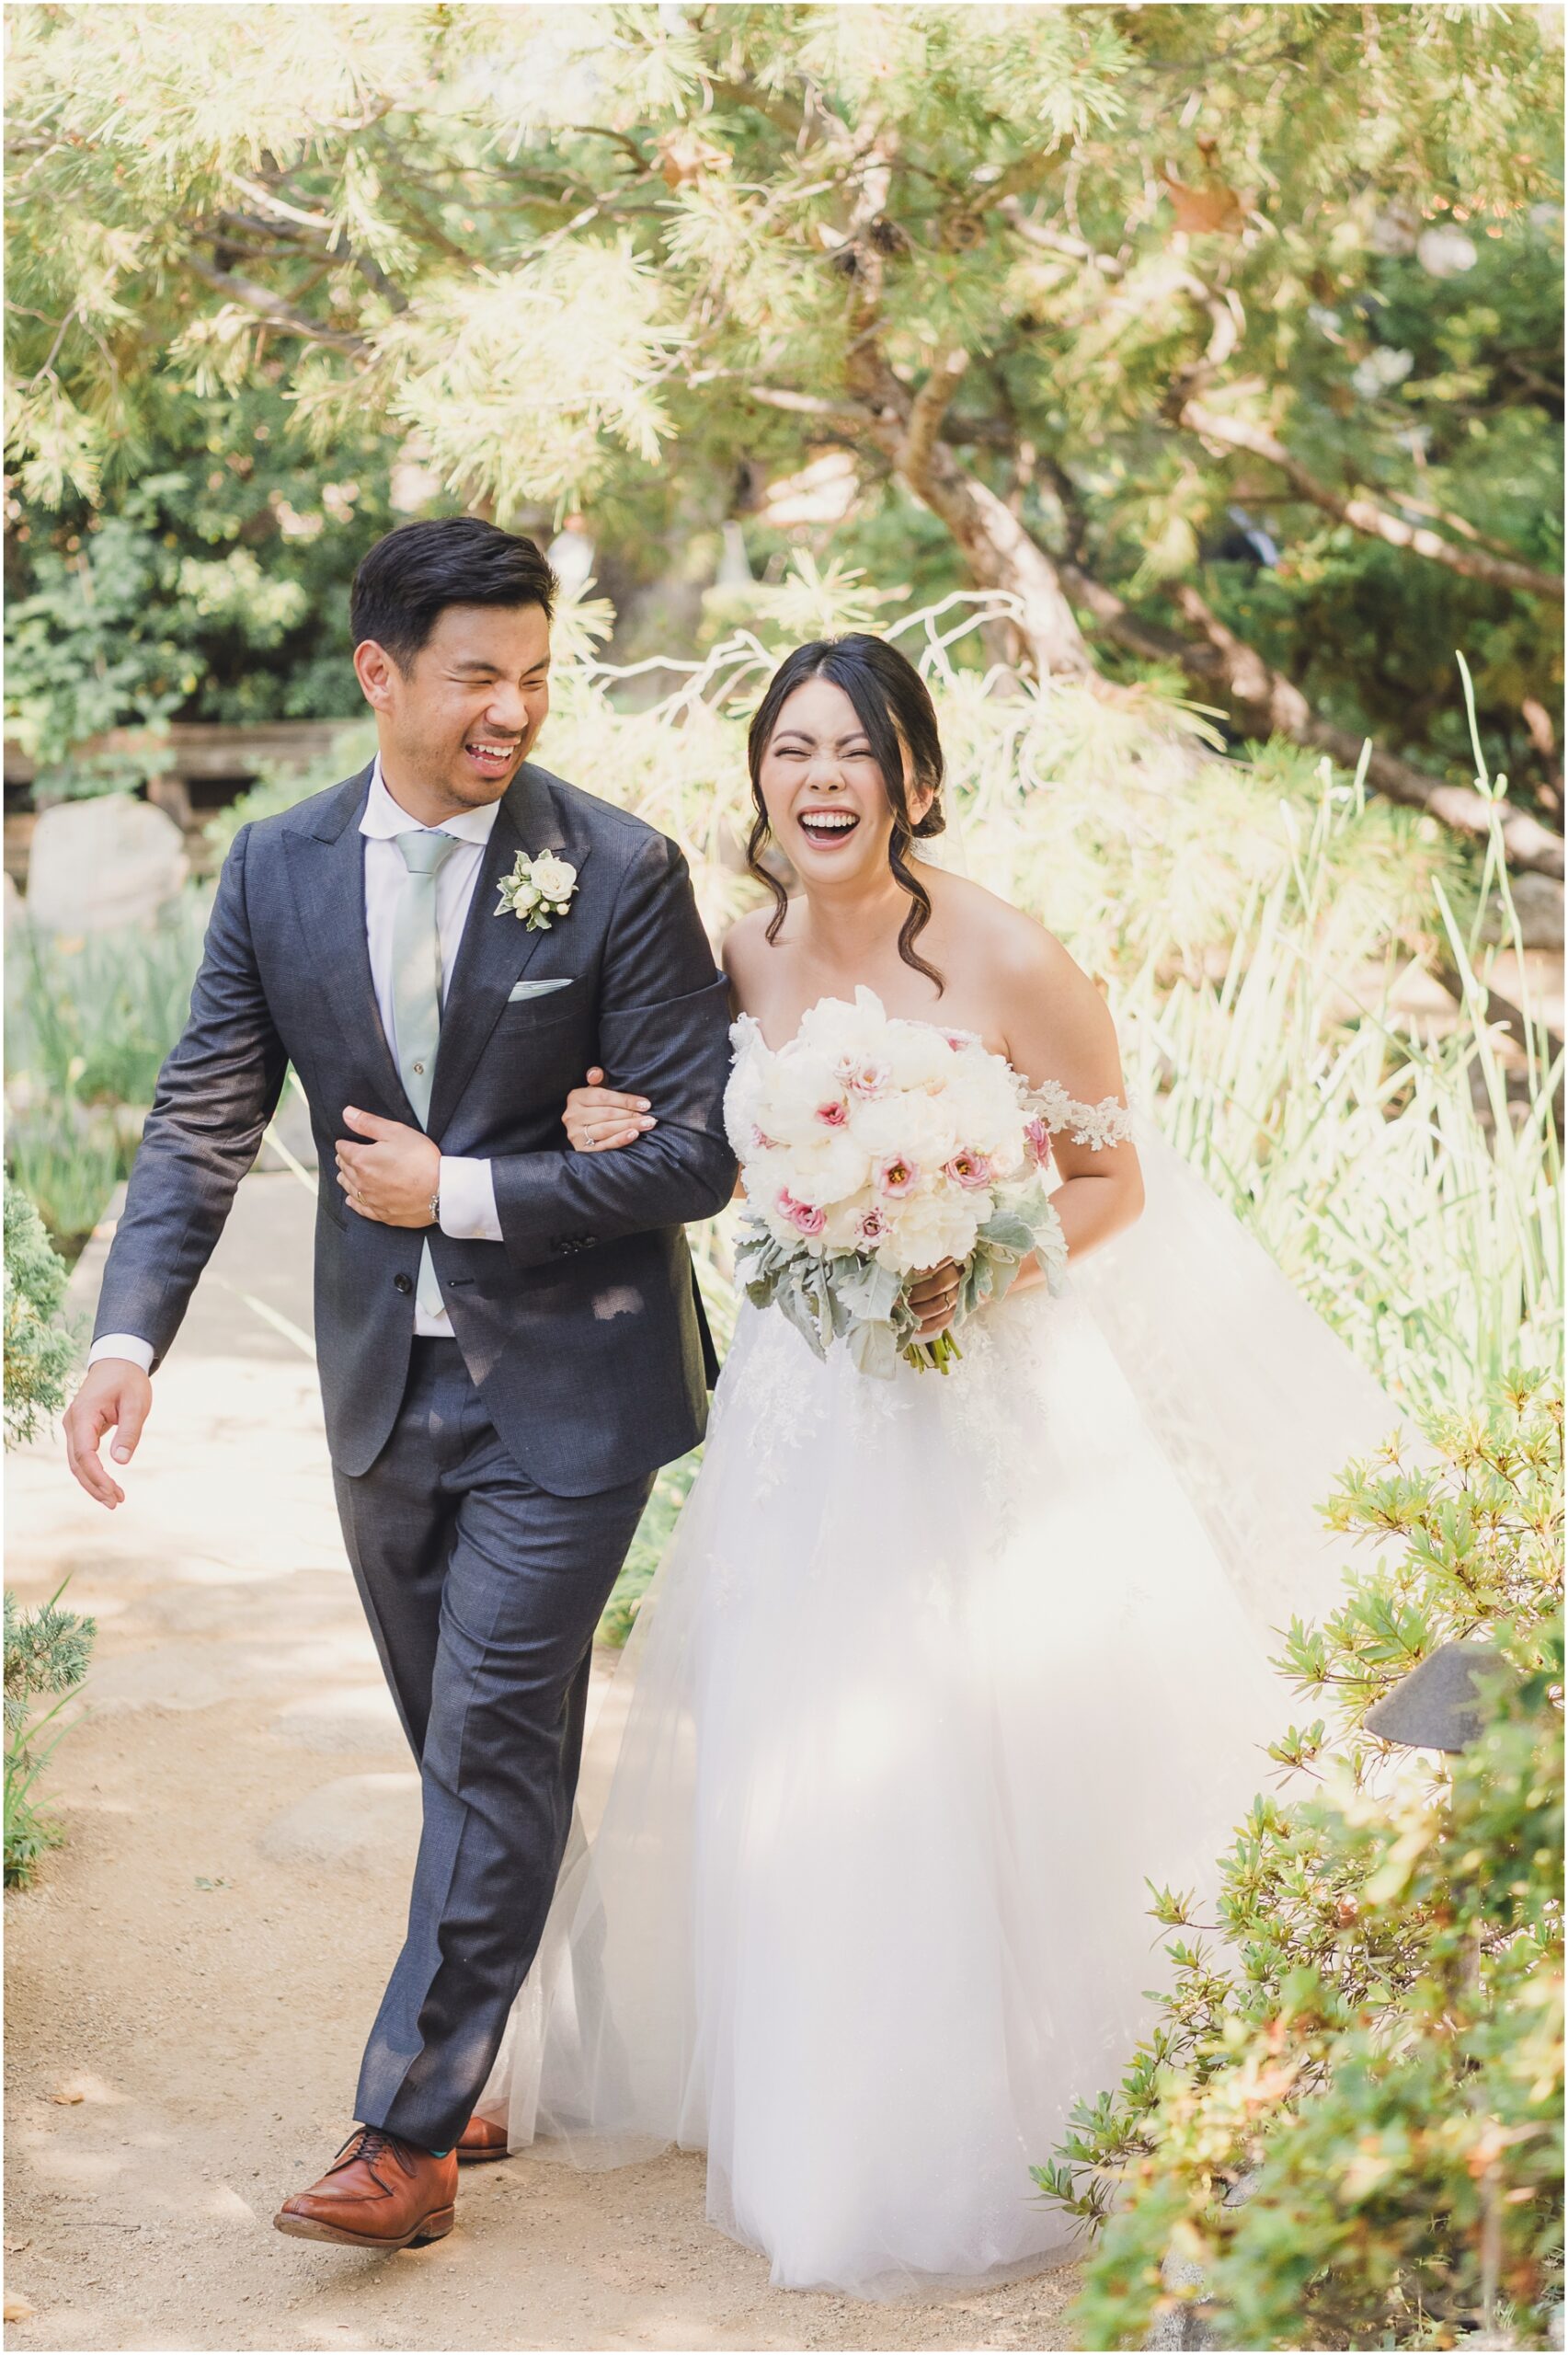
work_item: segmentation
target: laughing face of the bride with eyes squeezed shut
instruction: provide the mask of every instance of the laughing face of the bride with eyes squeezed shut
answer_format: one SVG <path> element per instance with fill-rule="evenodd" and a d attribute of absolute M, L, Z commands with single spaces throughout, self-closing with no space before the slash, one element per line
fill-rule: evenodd
<path fill-rule="evenodd" d="M 831 678 L 805 678 L 779 706 L 758 784 L 768 829 L 808 888 L 888 871 L 888 787 L 855 704 Z M 911 794 L 911 824 L 928 805 L 928 791 Z"/>

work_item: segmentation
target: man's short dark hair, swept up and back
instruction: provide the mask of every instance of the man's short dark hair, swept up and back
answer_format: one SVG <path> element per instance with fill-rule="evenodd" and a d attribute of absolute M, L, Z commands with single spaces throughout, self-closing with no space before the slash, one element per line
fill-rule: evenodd
<path fill-rule="evenodd" d="M 542 605 L 558 579 L 532 539 L 483 516 L 403 523 L 360 558 L 348 591 L 356 645 L 374 638 L 407 671 L 447 605 Z"/>

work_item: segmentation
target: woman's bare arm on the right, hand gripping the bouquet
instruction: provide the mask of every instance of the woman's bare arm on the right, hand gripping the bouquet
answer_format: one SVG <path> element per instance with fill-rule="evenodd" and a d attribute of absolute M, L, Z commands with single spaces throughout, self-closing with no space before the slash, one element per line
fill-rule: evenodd
<path fill-rule="evenodd" d="M 1125 1135 L 1116 1024 L 1088 973 L 1036 923 L 1008 942 L 1008 1057 L 1031 1088 L 1055 1081 L 1081 1114 L 1052 1123 L 1050 1140 L 1062 1173 L 1050 1199 L 1076 1260 L 1137 1220 L 1144 1178 Z M 1074 1130 L 1083 1142 L 1074 1142 Z M 1043 1281 L 1041 1265 L 1026 1260 L 1012 1291 Z"/>

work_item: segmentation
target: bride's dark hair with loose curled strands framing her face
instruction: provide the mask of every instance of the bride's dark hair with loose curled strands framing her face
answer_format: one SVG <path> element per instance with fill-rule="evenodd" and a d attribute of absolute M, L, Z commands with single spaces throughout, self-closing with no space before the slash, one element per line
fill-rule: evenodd
<path fill-rule="evenodd" d="M 859 725 L 866 730 L 866 744 L 871 747 L 871 758 L 883 772 L 883 791 L 888 794 L 888 808 L 892 810 L 888 864 L 902 890 L 909 893 L 911 902 L 899 930 L 899 956 L 906 966 L 913 966 L 916 973 L 923 973 L 937 984 L 937 989 L 942 989 L 944 982 L 937 968 L 928 966 L 925 958 L 916 954 L 916 940 L 930 923 L 930 893 L 906 857 L 913 841 L 928 841 L 946 827 L 946 812 L 942 810 L 944 763 L 942 737 L 937 735 L 937 709 L 913 662 L 909 662 L 906 655 L 899 655 L 897 645 L 888 645 L 885 638 L 871 638 L 864 631 L 852 631 L 845 638 L 812 638 L 810 645 L 798 645 L 793 655 L 786 655 L 768 681 L 768 692 L 756 706 L 751 730 L 746 732 L 746 768 L 751 770 L 751 798 L 756 803 L 756 822 L 746 843 L 746 864 L 751 874 L 768 885 L 775 900 L 768 940 L 779 937 L 779 926 L 784 923 L 784 911 L 789 907 L 789 893 L 779 878 L 758 862 L 763 843 L 768 841 L 763 754 L 772 744 L 772 732 L 779 725 L 779 711 L 808 678 L 831 678 L 836 688 L 843 688 L 855 704 Z M 909 777 L 904 775 L 906 763 Z M 909 817 L 911 784 L 916 791 L 930 787 L 932 794 L 930 808 L 918 822 L 911 822 Z"/>

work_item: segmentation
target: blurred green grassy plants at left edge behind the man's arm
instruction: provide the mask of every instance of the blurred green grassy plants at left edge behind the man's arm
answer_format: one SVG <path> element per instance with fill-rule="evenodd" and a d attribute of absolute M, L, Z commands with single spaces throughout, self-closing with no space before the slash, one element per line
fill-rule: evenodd
<path fill-rule="evenodd" d="M 19 928 L 7 958 L 7 1166 L 71 1255 L 129 1173 L 184 1029 L 207 895 L 155 928 L 85 940 Z"/>

